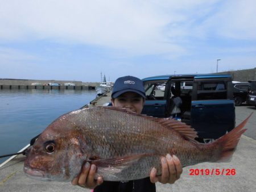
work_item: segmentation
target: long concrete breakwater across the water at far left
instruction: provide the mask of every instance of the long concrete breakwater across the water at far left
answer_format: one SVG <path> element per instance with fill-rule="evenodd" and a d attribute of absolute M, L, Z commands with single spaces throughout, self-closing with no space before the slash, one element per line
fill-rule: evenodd
<path fill-rule="evenodd" d="M 0 79 L 0 89 L 91 90 L 97 85 L 99 85 L 98 82 Z"/>

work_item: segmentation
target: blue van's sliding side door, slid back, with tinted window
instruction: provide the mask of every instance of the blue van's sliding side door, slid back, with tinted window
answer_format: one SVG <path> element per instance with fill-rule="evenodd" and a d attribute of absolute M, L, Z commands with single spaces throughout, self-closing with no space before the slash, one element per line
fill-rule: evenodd
<path fill-rule="evenodd" d="M 235 126 L 232 81 L 227 78 L 197 78 L 193 83 L 191 126 L 199 137 L 217 139 Z"/>

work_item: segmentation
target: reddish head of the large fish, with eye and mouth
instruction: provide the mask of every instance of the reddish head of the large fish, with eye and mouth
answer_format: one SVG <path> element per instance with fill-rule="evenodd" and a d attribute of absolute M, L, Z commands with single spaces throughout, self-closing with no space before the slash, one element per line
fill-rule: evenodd
<path fill-rule="evenodd" d="M 44 181 L 71 181 L 86 160 L 86 145 L 77 128 L 56 120 L 27 151 L 24 172 Z"/>

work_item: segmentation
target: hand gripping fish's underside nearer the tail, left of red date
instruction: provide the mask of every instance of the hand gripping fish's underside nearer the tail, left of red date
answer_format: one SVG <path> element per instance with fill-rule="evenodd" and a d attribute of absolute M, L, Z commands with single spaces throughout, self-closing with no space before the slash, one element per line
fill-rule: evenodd
<path fill-rule="evenodd" d="M 156 176 L 156 169 L 153 168 L 150 173 L 150 181 L 152 183 L 160 182 L 163 184 L 174 183 L 179 180 L 180 174 L 182 173 L 182 166 L 179 158 L 175 155 L 171 156 L 167 154 L 166 157 L 162 158 L 162 175 Z"/>

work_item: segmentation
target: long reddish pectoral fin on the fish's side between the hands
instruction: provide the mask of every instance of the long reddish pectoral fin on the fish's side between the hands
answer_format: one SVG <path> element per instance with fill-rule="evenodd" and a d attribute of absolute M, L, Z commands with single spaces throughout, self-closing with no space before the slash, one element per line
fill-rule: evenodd
<path fill-rule="evenodd" d="M 150 156 L 149 154 L 135 154 L 129 156 L 122 156 L 116 158 L 105 158 L 105 159 L 98 159 L 93 160 L 92 164 L 96 165 L 97 167 L 101 168 L 125 168 L 127 166 L 132 165 L 133 163 L 137 162 L 140 158 Z"/>

